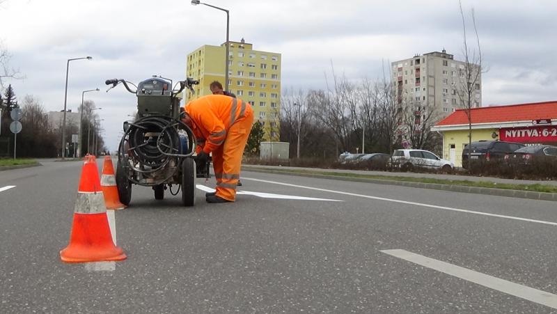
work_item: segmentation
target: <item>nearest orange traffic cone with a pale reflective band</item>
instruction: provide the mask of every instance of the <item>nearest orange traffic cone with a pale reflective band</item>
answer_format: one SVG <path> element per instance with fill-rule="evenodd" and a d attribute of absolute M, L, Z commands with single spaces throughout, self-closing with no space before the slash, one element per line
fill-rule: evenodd
<path fill-rule="evenodd" d="M 60 257 L 63 262 L 98 262 L 126 258 L 122 249 L 112 241 L 94 156 L 85 157 L 77 189 L 70 244 L 60 251 Z"/>

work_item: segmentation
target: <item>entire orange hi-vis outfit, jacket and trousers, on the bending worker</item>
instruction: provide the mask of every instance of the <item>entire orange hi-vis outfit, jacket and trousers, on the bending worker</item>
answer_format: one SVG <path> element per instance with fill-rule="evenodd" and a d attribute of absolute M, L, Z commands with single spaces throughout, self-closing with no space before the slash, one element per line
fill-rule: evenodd
<path fill-rule="evenodd" d="M 196 151 L 212 152 L 216 195 L 235 201 L 242 155 L 253 124 L 253 109 L 237 98 L 207 95 L 189 102 L 185 111 L 198 140 Z"/>

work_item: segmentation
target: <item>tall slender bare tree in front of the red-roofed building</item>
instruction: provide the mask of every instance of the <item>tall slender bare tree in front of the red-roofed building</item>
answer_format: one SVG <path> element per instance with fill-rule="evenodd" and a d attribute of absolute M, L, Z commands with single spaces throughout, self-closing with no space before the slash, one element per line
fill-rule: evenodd
<path fill-rule="evenodd" d="M 462 1 L 458 1 L 460 8 L 460 16 L 462 17 L 462 38 L 463 38 L 463 54 L 464 65 L 458 70 L 460 85 L 457 88 L 457 95 L 460 107 L 464 109 L 466 118 L 468 118 L 468 144 L 472 146 L 472 111 L 471 109 L 480 107 L 480 103 L 476 101 L 476 95 L 480 95 L 481 77 L 485 70 L 482 67 L 482 50 L 480 46 L 480 37 L 478 36 L 478 28 L 476 26 L 476 14 L 474 8 L 471 9 L 471 19 L 476 36 L 476 47 L 471 47 L 466 35 L 466 18 L 464 10 L 462 10 Z M 468 151 L 468 162 L 470 162 L 471 150 Z"/>

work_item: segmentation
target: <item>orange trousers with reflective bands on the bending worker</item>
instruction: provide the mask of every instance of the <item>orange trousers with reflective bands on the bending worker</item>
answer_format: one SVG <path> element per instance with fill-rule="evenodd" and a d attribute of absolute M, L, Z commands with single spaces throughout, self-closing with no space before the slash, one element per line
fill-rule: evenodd
<path fill-rule="evenodd" d="M 253 111 L 230 126 L 224 143 L 212 152 L 214 178 L 217 179 L 217 196 L 228 201 L 236 200 L 236 187 L 240 179 L 242 155 L 248 141 Z"/>

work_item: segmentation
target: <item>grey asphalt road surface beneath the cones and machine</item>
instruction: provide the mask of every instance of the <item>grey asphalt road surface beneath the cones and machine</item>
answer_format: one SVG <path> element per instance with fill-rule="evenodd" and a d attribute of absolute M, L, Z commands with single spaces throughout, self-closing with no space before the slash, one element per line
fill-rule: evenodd
<path fill-rule="evenodd" d="M 16 186 L 0 192 L 1 313 L 554 311 L 382 253 L 404 249 L 557 294 L 553 202 L 244 171 L 241 191 L 338 202 L 242 194 L 207 204 L 198 190 L 187 208 L 134 186 L 131 206 L 116 212 L 128 258 L 91 272 L 58 253 L 81 162 L 42 164 L 0 175 L 0 188 Z"/>

